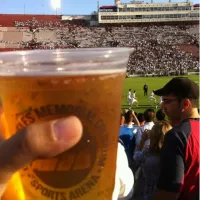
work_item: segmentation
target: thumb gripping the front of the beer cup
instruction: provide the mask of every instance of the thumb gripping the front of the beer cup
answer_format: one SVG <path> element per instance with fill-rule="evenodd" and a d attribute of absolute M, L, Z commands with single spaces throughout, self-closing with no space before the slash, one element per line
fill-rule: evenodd
<path fill-rule="evenodd" d="M 81 136 L 82 124 L 77 117 L 27 126 L 0 143 L 0 184 L 31 161 L 70 149 Z"/>

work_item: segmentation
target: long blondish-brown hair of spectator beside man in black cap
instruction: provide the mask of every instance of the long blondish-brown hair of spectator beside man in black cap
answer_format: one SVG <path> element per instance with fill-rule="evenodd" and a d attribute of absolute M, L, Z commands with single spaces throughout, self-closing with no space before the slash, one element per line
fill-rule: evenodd
<path fill-rule="evenodd" d="M 163 146 L 165 134 L 172 128 L 166 121 L 156 122 L 153 128 L 149 131 L 150 146 L 149 151 L 160 153 Z"/>

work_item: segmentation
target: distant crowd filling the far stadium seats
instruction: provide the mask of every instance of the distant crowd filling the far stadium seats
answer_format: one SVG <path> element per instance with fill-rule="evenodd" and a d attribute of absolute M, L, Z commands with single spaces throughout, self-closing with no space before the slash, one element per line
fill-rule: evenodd
<path fill-rule="evenodd" d="M 162 76 L 185 74 L 188 69 L 199 71 L 198 57 L 180 48 L 180 45 L 199 45 L 198 25 L 64 27 L 61 22 L 28 20 L 16 21 L 15 26 L 19 30 L 21 27 L 30 26 L 28 32 L 33 34 L 30 41 L 18 42 L 21 48 L 133 47 L 135 51 L 128 62 L 128 75 Z M 52 34 L 50 38 L 43 40 L 39 34 L 45 35 L 46 31 Z M 12 41 L 0 42 L 13 43 Z"/>

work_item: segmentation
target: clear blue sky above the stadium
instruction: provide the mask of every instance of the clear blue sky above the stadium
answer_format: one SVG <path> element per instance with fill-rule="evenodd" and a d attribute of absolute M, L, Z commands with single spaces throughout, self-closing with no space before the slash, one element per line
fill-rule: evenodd
<path fill-rule="evenodd" d="M 0 14 L 56 14 L 56 10 L 51 7 L 51 1 L 57 0 L 0 0 Z M 58 0 L 59 1 L 59 0 Z M 97 11 L 97 0 L 60 0 L 61 8 L 57 9 L 57 14 L 91 14 Z M 172 0 L 172 2 L 178 2 Z M 123 3 L 130 0 L 121 0 Z M 145 2 L 150 2 L 147 0 Z M 167 2 L 164 0 L 154 0 L 154 2 Z M 180 2 L 180 1 L 179 1 Z M 183 1 L 182 1 L 183 2 Z M 194 0 L 197 3 L 198 0 Z M 99 0 L 100 6 L 114 5 L 114 0 Z"/>

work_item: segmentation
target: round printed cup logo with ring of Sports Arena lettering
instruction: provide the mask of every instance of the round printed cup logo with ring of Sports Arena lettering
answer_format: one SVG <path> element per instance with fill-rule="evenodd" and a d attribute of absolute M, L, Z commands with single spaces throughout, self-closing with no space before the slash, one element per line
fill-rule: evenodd
<path fill-rule="evenodd" d="M 22 182 L 27 183 L 24 187 L 44 199 L 77 199 L 95 187 L 107 161 L 106 126 L 92 110 L 83 106 L 46 105 L 16 114 L 18 130 L 36 121 L 70 115 L 76 115 L 83 123 L 81 141 L 57 157 L 38 159 L 21 171 Z"/>

